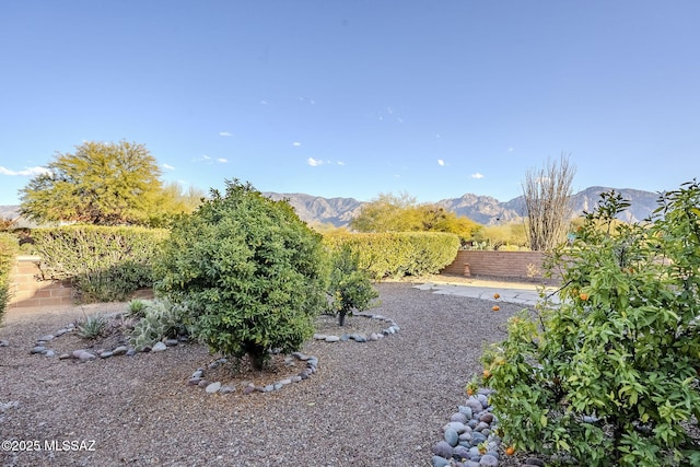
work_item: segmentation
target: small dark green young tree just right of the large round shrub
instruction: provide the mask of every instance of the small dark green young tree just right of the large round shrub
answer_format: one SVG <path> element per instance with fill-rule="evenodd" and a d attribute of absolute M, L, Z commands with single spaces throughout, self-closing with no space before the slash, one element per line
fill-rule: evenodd
<path fill-rule="evenodd" d="M 359 267 L 360 255 L 349 245 L 342 245 L 331 254 L 331 271 L 328 306 L 338 315 L 338 325 L 345 324 L 346 316 L 353 310 L 363 311 L 380 296 L 370 282 L 368 272 Z"/>

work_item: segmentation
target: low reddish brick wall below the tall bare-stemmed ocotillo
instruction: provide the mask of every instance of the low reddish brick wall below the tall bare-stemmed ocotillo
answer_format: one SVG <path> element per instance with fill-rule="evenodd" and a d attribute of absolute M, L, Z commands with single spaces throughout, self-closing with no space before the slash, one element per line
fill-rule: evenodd
<path fill-rule="evenodd" d="M 489 276 L 509 279 L 541 279 L 541 252 L 486 252 L 460 249 L 454 261 L 440 273 L 465 276 L 469 265 L 471 276 Z"/>

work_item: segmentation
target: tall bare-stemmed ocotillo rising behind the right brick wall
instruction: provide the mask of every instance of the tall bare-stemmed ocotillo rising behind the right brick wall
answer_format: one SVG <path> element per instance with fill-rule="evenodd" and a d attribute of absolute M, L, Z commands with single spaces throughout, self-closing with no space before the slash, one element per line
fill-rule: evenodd
<path fill-rule="evenodd" d="M 563 242 L 571 221 L 571 182 L 575 167 L 562 154 L 530 170 L 523 183 L 527 214 L 527 237 L 534 252 L 547 252 Z"/>

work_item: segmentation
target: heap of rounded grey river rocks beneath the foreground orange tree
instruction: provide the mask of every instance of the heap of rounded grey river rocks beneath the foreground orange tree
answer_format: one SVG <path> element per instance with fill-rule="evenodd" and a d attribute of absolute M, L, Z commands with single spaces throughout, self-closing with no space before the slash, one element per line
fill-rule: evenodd
<path fill-rule="evenodd" d="M 469 396 L 464 406 L 443 427 L 443 439 L 433 445 L 433 467 L 497 467 L 500 463 L 501 437 L 495 434 L 498 419 L 489 405 L 492 389 L 481 388 Z M 522 467 L 544 467 L 529 457 Z"/>

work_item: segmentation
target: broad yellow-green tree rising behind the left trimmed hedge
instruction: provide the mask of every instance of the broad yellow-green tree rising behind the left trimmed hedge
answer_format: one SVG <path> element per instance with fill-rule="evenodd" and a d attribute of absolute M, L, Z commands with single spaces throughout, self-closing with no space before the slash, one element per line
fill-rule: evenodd
<path fill-rule="evenodd" d="M 145 145 L 89 141 L 57 153 L 20 190 L 20 212 L 39 222 L 143 224 L 156 209 L 161 171 Z"/>

